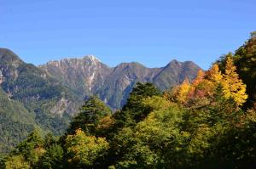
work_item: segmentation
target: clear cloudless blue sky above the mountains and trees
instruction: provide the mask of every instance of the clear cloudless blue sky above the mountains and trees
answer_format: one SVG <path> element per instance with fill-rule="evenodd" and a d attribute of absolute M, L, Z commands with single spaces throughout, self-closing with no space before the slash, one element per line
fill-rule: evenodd
<path fill-rule="evenodd" d="M 255 0 L 0 0 L 0 47 L 35 65 L 94 54 L 207 69 L 256 31 L 255 16 Z"/>

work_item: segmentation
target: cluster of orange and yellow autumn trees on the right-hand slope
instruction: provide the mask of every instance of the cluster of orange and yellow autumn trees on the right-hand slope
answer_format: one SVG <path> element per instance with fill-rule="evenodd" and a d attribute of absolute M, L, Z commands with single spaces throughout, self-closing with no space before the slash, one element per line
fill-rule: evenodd
<path fill-rule="evenodd" d="M 217 87 L 222 88 L 225 99 L 233 99 L 238 106 L 247 100 L 246 85 L 236 73 L 236 66 L 230 57 L 227 58 L 224 74 L 218 69 L 218 65 L 203 72 L 199 70 L 195 80 L 189 83 L 185 79 L 183 83 L 172 89 L 172 100 L 180 104 L 188 104 L 195 99 L 211 99 Z"/>

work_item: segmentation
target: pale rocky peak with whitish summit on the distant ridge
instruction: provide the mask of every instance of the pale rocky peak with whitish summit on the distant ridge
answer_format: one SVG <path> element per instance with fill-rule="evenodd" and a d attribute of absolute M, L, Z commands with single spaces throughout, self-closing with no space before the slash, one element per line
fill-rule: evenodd
<path fill-rule="evenodd" d="M 104 81 L 111 69 L 93 55 L 81 59 L 61 59 L 39 66 L 49 76 L 53 76 L 63 85 L 75 88 L 84 95 L 90 94 L 98 84 Z"/>

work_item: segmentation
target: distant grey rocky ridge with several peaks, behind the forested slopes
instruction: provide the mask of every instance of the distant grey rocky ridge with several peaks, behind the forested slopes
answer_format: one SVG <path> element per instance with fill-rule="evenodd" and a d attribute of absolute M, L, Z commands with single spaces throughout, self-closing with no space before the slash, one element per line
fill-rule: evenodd
<path fill-rule="evenodd" d="M 48 76 L 70 87 L 81 98 L 98 95 L 113 109 L 119 109 L 136 82 L 153 82 L 157 87 L 166 90 L 177 85 L 187 77 L 195 78 L 201 68 L 191 61 L 171 63 L 161 68 L 147 68 L 137 62 L 122 63 L 114 68 L 103 64 L 95 56 L 82 59 L 61 59 L 40 65 Z"/>

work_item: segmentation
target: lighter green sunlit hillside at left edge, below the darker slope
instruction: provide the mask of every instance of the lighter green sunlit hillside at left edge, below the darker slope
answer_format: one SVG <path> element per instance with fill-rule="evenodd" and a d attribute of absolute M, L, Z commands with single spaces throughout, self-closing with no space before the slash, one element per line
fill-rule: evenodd
<path fill-rule="evenodd" d="M 18 101 L 9 100 L 0 88 L 0 151 L 6 152 L 37 128 L 35 115 Z"/>

